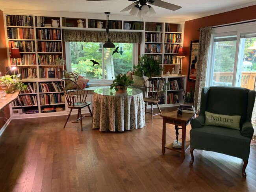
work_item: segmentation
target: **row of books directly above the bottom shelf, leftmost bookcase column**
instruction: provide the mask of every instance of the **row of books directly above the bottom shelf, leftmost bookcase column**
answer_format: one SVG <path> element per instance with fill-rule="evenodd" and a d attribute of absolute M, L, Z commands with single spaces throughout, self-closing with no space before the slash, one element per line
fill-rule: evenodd
<path fill-rule="evenodd" d="M 13 107 L 18 106 L 37 106 L 37 95 L 19 95 L 17 99 L 13 101 Z"/>

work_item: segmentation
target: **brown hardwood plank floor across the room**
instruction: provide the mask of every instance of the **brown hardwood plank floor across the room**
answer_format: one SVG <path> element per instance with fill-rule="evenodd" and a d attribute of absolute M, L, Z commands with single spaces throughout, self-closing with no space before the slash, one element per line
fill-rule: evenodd
<path fill-rule="evenodd" d="M 256 142 L 244 179 L 235 157 L 195 150 L 189 166 L 189 150 L 184 162 L 175 151 L 162 155 L 162 119 L 146 117 L 146 127 L 122 133 L 93 130 L 91 118 L 83 131 L 63 129 L 66 116 L 12 120 L 0 137 L 0 192 L 256 191 Z M 166 138 L 173 142 L 174 126 Z"/>

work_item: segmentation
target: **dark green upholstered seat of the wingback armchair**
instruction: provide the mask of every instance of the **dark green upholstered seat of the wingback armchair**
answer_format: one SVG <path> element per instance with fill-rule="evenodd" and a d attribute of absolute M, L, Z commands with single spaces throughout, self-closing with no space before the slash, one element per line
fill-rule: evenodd
<path fill-rule="evenodd" d="M 190 146 L 248 160 L 250 138 L 243 137 L 240 130 L 205 125 L 190 130 Z"/>

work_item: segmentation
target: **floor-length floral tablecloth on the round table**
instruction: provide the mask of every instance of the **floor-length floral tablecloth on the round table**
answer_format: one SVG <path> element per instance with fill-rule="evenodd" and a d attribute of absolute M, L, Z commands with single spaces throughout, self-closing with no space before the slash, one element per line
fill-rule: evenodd
<path fill-rule="evenodd" d="M 124 131 L 145 127 L 142 91 L 128 88 L 119 93 L 109 87 L 96 89 L 93 95 L 93 128 L 100 131 Z"/>

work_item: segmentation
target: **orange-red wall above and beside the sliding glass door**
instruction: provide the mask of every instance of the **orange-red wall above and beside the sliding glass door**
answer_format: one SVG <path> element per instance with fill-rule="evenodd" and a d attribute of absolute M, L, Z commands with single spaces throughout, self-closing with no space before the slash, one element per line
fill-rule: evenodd
<path fill-rule="evenodd" d="M 236 9 L 234 11 L 228 11 L 225 13 L 220 13 L 217 15 L 211 15 L 208 17 L 202 17 L 194 20 L 189 20 L 185 22 L 184 26 L 184 51 L 186 57 L 182 58 L 182 74 L 188 75 L 189 68 L 189 52 L 190 52 L 190 42 L 192 40 L 199 39 L 199 29 L 205 26 L 218 26 L 223 24 L 229 24 L 234 22 L 241 22 L 245 20 L 255 20 L 256 19 L 256 6 L 245 7 L 242 9 Z M 195 83 L 187 81 L 187 91 L 190 87 L 195 87 Z"/>

